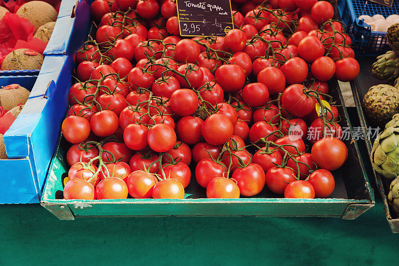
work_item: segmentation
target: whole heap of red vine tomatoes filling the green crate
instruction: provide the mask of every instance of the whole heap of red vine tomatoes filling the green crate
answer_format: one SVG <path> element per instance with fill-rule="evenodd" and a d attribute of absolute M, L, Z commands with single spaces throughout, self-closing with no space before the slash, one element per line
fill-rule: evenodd
<path fill-rule="evenodd" d="M 326 1 L 232 6 L 224 37 L 182 38 L 174 0 L 91 4 L 65 199 L 182 199 L 190 182 L 208 198 L 330 196 L 348 150 L 327 81 L 359 74 L 350 37 Z"/>

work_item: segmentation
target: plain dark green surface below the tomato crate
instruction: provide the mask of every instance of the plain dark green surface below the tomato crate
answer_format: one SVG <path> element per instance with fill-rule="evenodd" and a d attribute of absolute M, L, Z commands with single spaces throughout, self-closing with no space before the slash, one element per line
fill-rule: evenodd
<path fill-rule="evenodd" d="M 355 108 L 349 108 L 356 119 Z M 357 123 L 355 123 L 357 124 Z M 0 205 L 0 266 L 386 265 L 392 234 L 376 205 L 355 220 L 280 217 L 77 218 Z"/>

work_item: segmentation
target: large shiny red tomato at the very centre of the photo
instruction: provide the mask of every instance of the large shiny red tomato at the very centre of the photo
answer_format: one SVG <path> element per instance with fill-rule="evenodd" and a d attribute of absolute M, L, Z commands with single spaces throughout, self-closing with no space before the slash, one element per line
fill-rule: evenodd
<path fill-rule="evenodd" d="M 210 115 L 201 126 L 203 138 L 211 145 L 221 145 L 227 142 L 232 136 L 233 130 L 231 121 L 222 114 Z"/>

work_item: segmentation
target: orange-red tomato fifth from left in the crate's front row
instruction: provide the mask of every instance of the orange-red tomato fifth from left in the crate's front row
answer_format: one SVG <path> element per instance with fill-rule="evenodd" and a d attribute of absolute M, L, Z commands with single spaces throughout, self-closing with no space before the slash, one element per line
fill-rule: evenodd
<path fill-rule="evenodd" d="M 213 178 L 206 187 L 206 197 L 208 199 L 238 199 L 240 189 L 234 180 L 218 176 Z"/>

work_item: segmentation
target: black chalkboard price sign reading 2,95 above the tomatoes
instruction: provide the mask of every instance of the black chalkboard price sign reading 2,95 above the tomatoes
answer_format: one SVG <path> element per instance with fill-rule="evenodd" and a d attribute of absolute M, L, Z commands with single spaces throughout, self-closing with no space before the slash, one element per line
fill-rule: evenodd
<path fill-rule="evenodd" d="M 224 36 L 233 28 L 229 0 L 177 0 L 180 35 Z"/>

